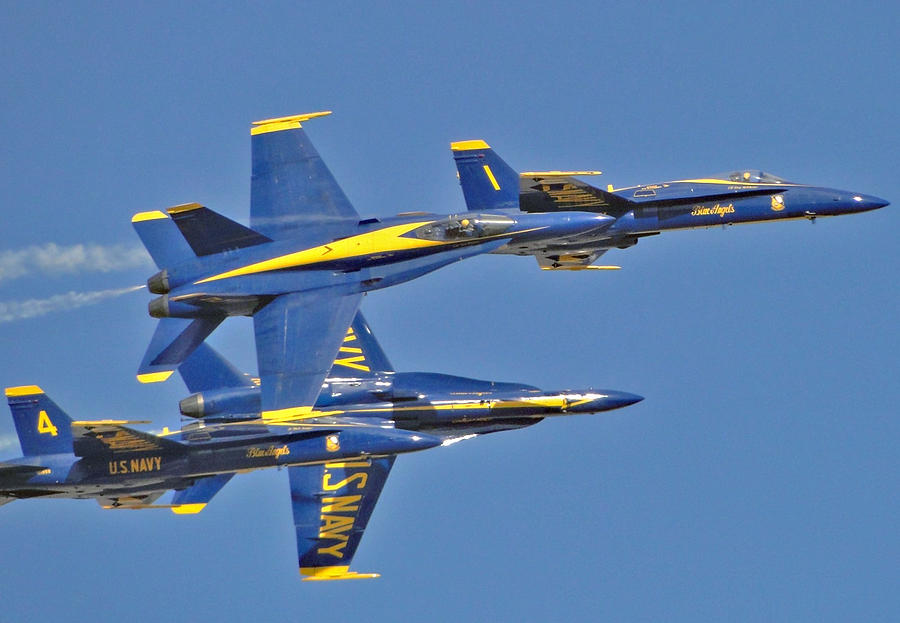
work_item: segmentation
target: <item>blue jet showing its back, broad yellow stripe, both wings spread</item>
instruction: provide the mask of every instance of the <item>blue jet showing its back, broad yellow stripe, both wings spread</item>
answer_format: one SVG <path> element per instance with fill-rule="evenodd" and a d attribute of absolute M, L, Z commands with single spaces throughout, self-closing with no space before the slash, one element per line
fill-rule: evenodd
<path fill-rule="evenodd" d="M 149 304 L 161 320 L 138 380 L 165 380 L 226 317 L 253 316 L 262 413 L 302 415 L 365 292 L 509 244 L 555 248 L 615 222 L 559 210 L 363 219 L 302 128 L 325 114 L 254 124 L 250 227 L 196 203 L 133 217 L 160 268 L 148 288 L 161 295 Z"/>

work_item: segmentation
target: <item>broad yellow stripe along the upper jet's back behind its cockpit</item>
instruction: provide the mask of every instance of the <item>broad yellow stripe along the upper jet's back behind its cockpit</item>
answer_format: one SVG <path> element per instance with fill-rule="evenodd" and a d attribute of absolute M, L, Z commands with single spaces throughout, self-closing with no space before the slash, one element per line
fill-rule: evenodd
<path fill-rule="evenodd" d="M 241 277 L 244 275 L 255 275 L 257 273 L 269 272 L 272 270 L 281 270 L 284 268 L 296 268 L 298 266 L 309 266 L 310 264 L 319 264 L 323 262 L 332 262 L 335 260 L 344 260 L 352 257 L 362 257 L 372 253 L 384 253 L 390 251 L 406 251 L 409 249 L 423 249 L 426 247 L 441 246 L 450 244 L 450 242 L 440 242 L 436 240 L 423 240 L 421 238 L 407 238 L 406 234 L 417 227 L 427 225 L 433 221 L 419 221 L 416 223 L 405 223 L 403 225 L 393 225 L 376 231 L 350 236 L 341 240 L 335 240 L 328 244 L 323 244 L 311 249 L 297 251 L 296 253 L 288 253 L 272 259 L 256 262 L 241 268 L 235 268 L 206 279 L 197 281 L 197 284 L 207 283 L 210 281 L 218 281 L 220 279 L 228 279 L 229 277 Z M 451 241 L 457 242 L 457 241 Z"/>

